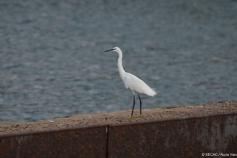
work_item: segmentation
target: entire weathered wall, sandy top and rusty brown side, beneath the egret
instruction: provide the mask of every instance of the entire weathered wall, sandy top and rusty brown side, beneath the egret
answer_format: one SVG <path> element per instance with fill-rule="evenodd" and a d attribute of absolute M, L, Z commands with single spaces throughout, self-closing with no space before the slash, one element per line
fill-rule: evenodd
<path fill-rule="evenodd" d="M 138 111 L 136 111 L 138 113 Z M 0 158 L 237 156 L 237 102 L 0 123 Z"/>

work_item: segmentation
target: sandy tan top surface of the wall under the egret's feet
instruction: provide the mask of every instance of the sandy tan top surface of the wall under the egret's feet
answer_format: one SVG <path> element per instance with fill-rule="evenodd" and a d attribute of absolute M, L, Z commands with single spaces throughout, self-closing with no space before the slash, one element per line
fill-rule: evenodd
<path fill-rule="evenodd" d="M 144 109 L 143 117 L 136 117 L 139 116 L 139 112 L 137 110 L 134 112 L 135 117 L 133 119 L 130 119 L 131 111 L 127 110 L 112 113 L 76 115 L 69 118 L 57 118 L 53 120 L 54 122 L 47 120 L 29 123 L 0 122 L 0 137 L 71 128 L 160 122 L 166 120 L 237 114 L 237 102 L 225 101 L 195 106 Z"/>

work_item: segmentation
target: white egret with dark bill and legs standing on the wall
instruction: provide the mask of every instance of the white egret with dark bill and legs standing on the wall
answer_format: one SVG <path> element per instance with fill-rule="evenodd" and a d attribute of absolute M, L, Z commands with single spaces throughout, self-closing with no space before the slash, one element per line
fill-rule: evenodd
<path fill-rule="evenodd" d="M 133 94 L 133 106 L 131 117 L 133 116 L 133 111 L 135 107 L 135 96 L 137 95 L 140 101 L 140 115 L 142 114 L 142 100 L 139 94 L 145 94 L 148 96 L 156 95 L 156 92 L 150 88 L 143 80 L 137 76 L 126 72 L 123 68 L 122 58 L 123 52 L 119 47 L 114 47 L 112 49 L 106 50 L 105 52 L 117 52 L 118 53 L 118 71 L 119 75 L 126 88 L 130 89 Z"/>

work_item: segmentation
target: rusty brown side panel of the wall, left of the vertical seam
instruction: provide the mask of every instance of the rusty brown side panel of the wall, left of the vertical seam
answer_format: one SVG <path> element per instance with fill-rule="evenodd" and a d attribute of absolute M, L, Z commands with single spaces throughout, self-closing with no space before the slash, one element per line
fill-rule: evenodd
<path fill-rule="evenodd" d="M 0 138 L 0 158 L 104 158 L 106 127 Z"/>

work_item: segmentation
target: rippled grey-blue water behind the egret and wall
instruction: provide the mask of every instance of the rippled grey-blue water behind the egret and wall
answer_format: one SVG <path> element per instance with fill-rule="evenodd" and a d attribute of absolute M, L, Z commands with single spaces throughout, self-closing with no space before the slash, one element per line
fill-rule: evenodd
<path fill-rule="evenodd" d="M 0 120 L 130 109 L 114 46 L 146 108 L 236 100 L 236 41 L 235 0 L 2 0 Z"/>

